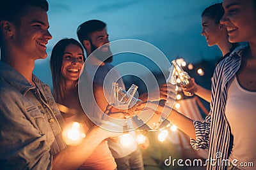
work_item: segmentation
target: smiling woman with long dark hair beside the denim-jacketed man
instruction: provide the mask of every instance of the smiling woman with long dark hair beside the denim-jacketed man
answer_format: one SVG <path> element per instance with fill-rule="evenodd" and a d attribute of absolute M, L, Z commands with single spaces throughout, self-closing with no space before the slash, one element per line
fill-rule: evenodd
<path fill-rule="evenodd" d="M 79 102 L 78 79 L 85 58 L 83 47 L 76 39 L 61 39 L 52 49 L 51 71 L 54 99 L 65 124 L 79 122 L 85 132 L 93 127 Z M 80 169 L 116 169 L 107 141 L 102 141 Z"/>

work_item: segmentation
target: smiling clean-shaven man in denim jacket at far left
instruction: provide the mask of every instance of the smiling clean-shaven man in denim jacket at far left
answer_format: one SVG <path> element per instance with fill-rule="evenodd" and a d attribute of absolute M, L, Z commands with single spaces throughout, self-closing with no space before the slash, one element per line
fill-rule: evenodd
<path fill-rule="evenodd" d="M 0 4 L 0 169 L 77 169 L 113 132 L 93 127 L 66 146 L 63 120 L 49 86 L 32 74 L 52 38 L 45 0 Z"/>

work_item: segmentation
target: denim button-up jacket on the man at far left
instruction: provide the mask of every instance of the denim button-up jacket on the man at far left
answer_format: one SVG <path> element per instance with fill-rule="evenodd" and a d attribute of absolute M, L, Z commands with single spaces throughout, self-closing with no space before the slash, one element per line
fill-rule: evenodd
<path fill-rule="evenodd" d="M 52 155 L 66 148 L 51 90 L 33 81 L 0 61 L 0 169 L 51 169 Z"/>

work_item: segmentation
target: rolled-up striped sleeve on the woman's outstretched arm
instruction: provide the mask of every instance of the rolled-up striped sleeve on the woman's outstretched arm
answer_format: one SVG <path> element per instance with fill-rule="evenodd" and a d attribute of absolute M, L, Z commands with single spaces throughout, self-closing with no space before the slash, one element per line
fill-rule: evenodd
<path fill-rule="evenodd" d="M 191 138 L 190 144 L 194 150 L 209 148 L 211 114 L 205 118 L 204 122 L 193 120 L 193 124 L 195 125 L 196 139 Z"/>

